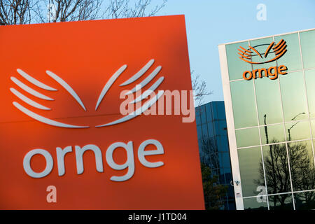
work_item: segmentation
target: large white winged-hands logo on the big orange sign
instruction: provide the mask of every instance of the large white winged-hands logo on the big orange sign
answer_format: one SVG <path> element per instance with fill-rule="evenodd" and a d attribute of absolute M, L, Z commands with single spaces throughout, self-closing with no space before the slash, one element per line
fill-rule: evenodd
<path fill-rule="evenodd" d="M 143 68 L 141 68 L 136 74 L 134 74 L 134 76 L 132 76 L 131 78 L 126 80 L 124 83 L 121 83 L 120 87 L 125 87 L 126 85 L 130 85 L 132 83 L 135 83 L 139 78 L 144 76 L 146 71 L 148 71 L 148 69 L 151 68 L 153 63 L 154 63 L 154 59 L 151 59 Z M 120 69 L 118 69 L 113 74 L 113 76 L 111 76 L 111 78 L 109 78 L 107 83 L 104 85 L 104 87 L 102 89 L 102 92 L 99 94 L 99 98 L 97 99 L 97 104 L 95 106 L 95 111 L 97 111 L 97 109 L 99 108 L 99 104 L 102 102 L 102 99 L 104 99 L 104 97 L 106 96 L 106 93 L 109 91 L 109 89 L 111 88 L 113 83 L 115 83 L 116 79 L 125 71 L 126 68 L 127 68 L 126 64 L 121 66 Z M 149 83 L 152 83 L 151 81 L 153 80 L 153 78 L 155 78 L 155 76 L 158 76 L 158 74 L 160 73 L 161 69 L 162 69 L 162 66 L 157 66 L 148 76 L 146 76 L 146 78 L 144 78 L 144 80 L 142 80 L 140 83 L 136 84 L 136 86 L 137 87 L 140 86 L 140 88 L 134 87 L 134 88 L 132 88 L 132 90 L 127 91 L 127 93 L 125 93 L 125 95 L 127 95 L 127 94 L 134 94 L 134 92 L 137 92 L 138 90 L 141 90 L 142 87 L 148 85 Z M 53 87 L 50 87 L 48 85 L 45 85 L 44 83 L 41 83 L 39 80 L 36 80 L 32 76 L 29 76 L 29 74 L 25 73 L 25 71 L 22 71 L 21 69 L 17 69 L 17 71 L 20 74 L 20 76 L 22 76 L 22 78 L 25 78 L 25 80 L 29 81 L 29 83 L 31 83 L 33 85 L 36 85 L 37 87 L 40 87 L 42 90 L 48 91 L 48 93 L 52 92 L 52 91 L 57 91 L 57 89 L 55 89 Z M 73 90 L 73 88 L 68 83 L 66 83 L 62 78 L 57 76 L 52 71 L 46 71 L 46 73 L 47 73 L 48 76 L 50 76 L 52 79 L 54 79 L 57 83 L 59 83 L 59 85 L 61 85 L 67 92 L 69 92 L 69 94 L 73 97 L 73 99 L 76 100 L 76 102 L 80 105 L 80 107 L 84 111 L 86 111 L 82 100 L 80 99 L 78 94 L 76 94 L 76 92 Z M 140 101 L 146 99 L 146 97 L 148 97 L 151 94 L 151 92 L 154 92 L 161 85 L 161 83 L 163 82 L 164 78 L 165 78 L 164 76 L 161 76 L 160 78 L 158 78 L 158 80 L 155 81 L 155 83 L 153 83 L 151 85 L 151 87 L 148 88 L 148 90 L 144 91 L 144 93 L 141 94 L 141 96 L 139 96 L 136 99 L 134 99 L 134 101 L 130 102 L 130 104 L 135 104 L 137 102 L 140 102 Z M 38 99 L 45 99 L 45 100 L 48 100 L 48 101 L 54 100 L 54 99 L 46 96 L 45 95 L 46 93 L 42 94 L 40 92 L 37 92 L 36 90 L 34 90 L 33 88 L 29 87 L 25 83 L 22 83 L 22 81 L 20 81 L 18 78 L 15 78 L 15 77 L 11 76 L 10 79 L 13 81 L 13 83 L 15 83 L 15 85 L 18 85 L 18 87 L 20 87 L 22 90 L 24 90 L 25 92 L 33 95 L 34 97 L 37 97 Z M 29 106 L 32 106 L 32 107 L 34 107 L 36 109 L 41 109 L 41 110 L 44 110 L 44 111 L 51 110 L 50 108 L 48 108 L 46 106 L 43 106 L 41 104 L 38 104 L 37 102 L 35 102 L 32 99 L 29 99 L 29 97 L 26 97 L 24 94 L 22 94 L 21 92 L 16 90 L 14 87 L 10 87 L 10 91 L 16 97 L 18 97 L 18 99 L 22 100 L 22 102 L 25 102 L 26 104 L 29 104 Z M 119 124 L 119 123 L 123 123 L 123 122 L 125 122 L 127 120 L 131 120 L 132 118 L 136 118 L 141 113 L 143 113 L 144 111 L 148 110 L 153 104 L 155 104 L 158 101 L 158 99 L 160 99 L 160 97 L 162 97 L 163 93 L 164 93 L 164 91 L 162 91 L 162 90 L 158 91 L 158 94 L 155 95 L 155 98 L 150 99 L 143 106 L 141 106 L 141 108 L 137 109 L 133 113 L 130 113 L 127 116 L 124 116 L 123 118 L 119 118 L 118 120 L 114 120 L 111 123 L 97 125 L 96 127 L 105 127 L 105 126 L 110 126 L 110 125 L 116 125 L 116 124 Z M 34 111 L 31 111 L 31 110 L 25 108 L 24 106 L 22 106 L 18 102 L 13 102 L 13 105 L 18 110 L 22 111 L 22 113 L 25 113 L 27 116 L 33 118 L 34 120 L 38 120 L 41 123 L 45 123 L 47 125 L 52 125 L 52 126 L 55 126 L 55 127 L 68 127 L 68 128 L 87 128 L 87 127 L 89 127 L 89 126 L 78 126 L 78 125 L 70 125 L 70 124 L 66 124 L 66 123 L 60 123 L 60 122 L 57 122 L 56 120 L 51 120 L 49 118 L 45 118 L 45 117 L 39 115 L 38 113 L 34 113 Z"/>

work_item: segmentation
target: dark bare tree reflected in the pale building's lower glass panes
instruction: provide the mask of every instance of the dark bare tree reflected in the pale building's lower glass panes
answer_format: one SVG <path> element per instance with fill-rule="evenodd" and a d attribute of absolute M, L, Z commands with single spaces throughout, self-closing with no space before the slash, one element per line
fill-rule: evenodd
<path fill-rule="evenodd" d="M 288 168 L 288 159 L 285 144 L 276 144 L 278 141 L 271 141 L 274 145 L 265 146 L 264 149 L 264 165 L 267 181 L 268 194 L 290 192 L 290 173 Z M 295 191 L 311 190 L 315 188 L 315 175 L 313 158 L 307 153 L 307 144 L 297 142 L 288 144 L 288 154 L 290 158 L 290 172 L 292 184 Z M 262 162 L 260 162 L 260 179 L 256 183 L 264 183 L 264 170 Z M 280 204 L 280 207 L 285 207 L 287 197 L 290 194 L 272 195 L 269 197 L 269 203 L 274 207 Z M 314 192 L 301 193 L 300 197 L 305 202 L 314 201 Z"/>

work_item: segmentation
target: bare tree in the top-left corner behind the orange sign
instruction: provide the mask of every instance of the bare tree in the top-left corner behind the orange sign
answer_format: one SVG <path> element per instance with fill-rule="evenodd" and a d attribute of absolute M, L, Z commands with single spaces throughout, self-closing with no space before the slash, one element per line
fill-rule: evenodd
<path fill-rule="evenodd" d="M 31 8 L 36 3 L 33 0 L 0 0 L 0 25 L 31 23 Z"/>

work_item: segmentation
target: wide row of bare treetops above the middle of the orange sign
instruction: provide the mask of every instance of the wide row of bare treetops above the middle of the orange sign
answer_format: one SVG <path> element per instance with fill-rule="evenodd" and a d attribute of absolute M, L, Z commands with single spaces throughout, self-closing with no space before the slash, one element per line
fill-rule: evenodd
<path fill-rule="evenodd" d="M 34 10 L 37 22 L 50 22 L 47 19 L 48 8 L 51 22 L 96 20 L 101 18 L 134 18 L 153 16 L 160 11 L 167 0 L 153 5 L 152 0 L 39 0 Z"/>

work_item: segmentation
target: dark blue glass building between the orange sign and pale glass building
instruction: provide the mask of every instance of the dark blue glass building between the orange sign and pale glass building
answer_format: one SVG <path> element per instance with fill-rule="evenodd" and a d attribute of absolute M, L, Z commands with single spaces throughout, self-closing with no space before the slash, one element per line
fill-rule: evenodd
<path fill-rule="evenodd" d="M 210 102 L 196 107 L 196 123 L 200 161 L 218 176 L 218 184 L 228 186 L 228 193 L 221 198 L 222 209 L 235 210 L 224 102 Z"/>

